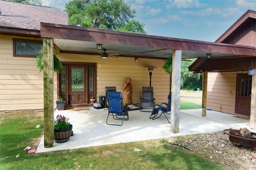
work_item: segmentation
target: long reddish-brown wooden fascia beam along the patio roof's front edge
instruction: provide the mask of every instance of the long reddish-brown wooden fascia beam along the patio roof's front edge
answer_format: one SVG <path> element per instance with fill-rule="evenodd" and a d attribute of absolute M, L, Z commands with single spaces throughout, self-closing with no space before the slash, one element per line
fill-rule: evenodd
<path fill-rule="evenodd" d="M 151 48 L 168 48 L 207 53 L 224 53 L 235 55 L 256 55 L 256 48 L 207 41 L 188 40 L 180 38 L 142 35 L 139 33 L 101 30 L 41 22 L 41 36 L 47 38 L 89 41 L 95 43 L 110 43 L 124 46 Z"/>

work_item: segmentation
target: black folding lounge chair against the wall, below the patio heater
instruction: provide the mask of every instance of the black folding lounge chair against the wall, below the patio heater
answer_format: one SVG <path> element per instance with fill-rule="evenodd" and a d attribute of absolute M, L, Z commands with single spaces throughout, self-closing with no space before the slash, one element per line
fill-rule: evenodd
<path fill-rule="evenodd" d="M 142 97 L 140 98 L 140 111 L 141 112 L 151 112 L 142 111 L 144 108 L 153 108 L 155 106 L 155 98 L 153 87 L 142 87 Z"/>

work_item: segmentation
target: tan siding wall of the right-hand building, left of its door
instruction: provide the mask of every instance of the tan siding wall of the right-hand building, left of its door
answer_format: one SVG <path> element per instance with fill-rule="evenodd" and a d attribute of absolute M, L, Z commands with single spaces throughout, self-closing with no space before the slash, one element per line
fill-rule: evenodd
<path fill-rule="evenodd" d="M 237 72 L 208 73 L 207 108 L 235 114 Z"/>

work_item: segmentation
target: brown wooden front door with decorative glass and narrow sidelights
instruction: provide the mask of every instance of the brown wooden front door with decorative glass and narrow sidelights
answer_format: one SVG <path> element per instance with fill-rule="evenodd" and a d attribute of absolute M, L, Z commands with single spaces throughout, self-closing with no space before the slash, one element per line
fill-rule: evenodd
<path fill-rule="evenodd" d="M 63 64 L 59 74 L 59 96 L 66 105 L 87 105 L 96 96 L 96 65 L 93 63 Z"/>

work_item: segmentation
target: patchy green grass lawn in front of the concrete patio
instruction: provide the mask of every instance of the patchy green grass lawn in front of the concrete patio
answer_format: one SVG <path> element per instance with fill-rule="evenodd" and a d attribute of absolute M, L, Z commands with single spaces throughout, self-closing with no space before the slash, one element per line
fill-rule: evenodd
<path fill-rule="evenodd" d="M 28 155 L 23 149 L 37 146 L 43 128 L 35 126 L 42 123 L 42 113 L 0 113 L 0 169 L 222 169 L 165 140 Z"/>

